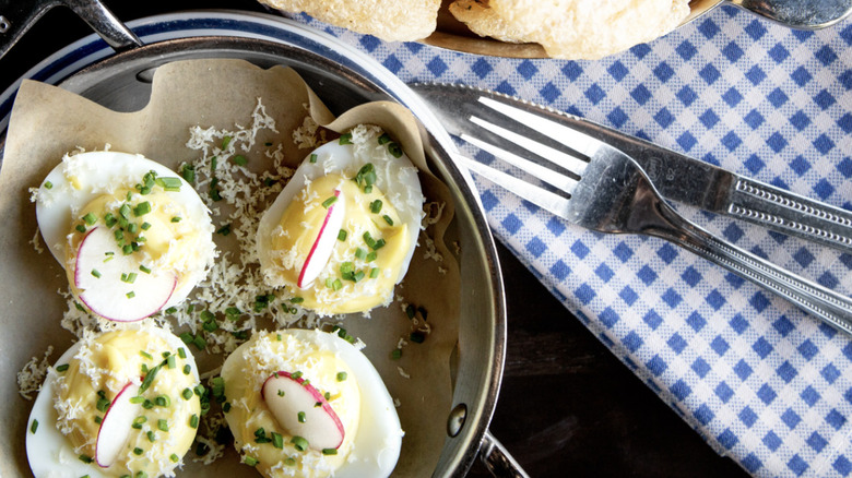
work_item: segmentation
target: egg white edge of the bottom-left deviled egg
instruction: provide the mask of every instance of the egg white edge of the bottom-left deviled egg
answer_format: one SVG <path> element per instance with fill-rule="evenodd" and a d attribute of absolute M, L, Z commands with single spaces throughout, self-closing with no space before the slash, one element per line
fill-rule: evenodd
<path fill-rule="evenodd" d="M 144 331 L 163 338 L 170 348 L 184 348 L 187 352 L 186 362 L 190 367 L 190 373 L 192 378 L 199 380 L 196 358 L 179 337 L 158 327 L 145 327 Z M 79 478 L 85 475 L 91 478 L 111 477 L 104 474 L 94 461 L 92 463 L 80 461 L 79 456 L 74 454 L 71 441 L 56 427 L 59 419 L 56 408 L 54 408 L 56 366 L 70 362 L 81 347 L 82 343 L 78 342 L 57 359 L 38 392 L 33 409 L 29 411 L 29 420 L 26 425 L 26 457 L 29 461 L 29 469 L 36 478 Z M 31 431 L 33 420 L 38 420 L 35 433 Z"/>

